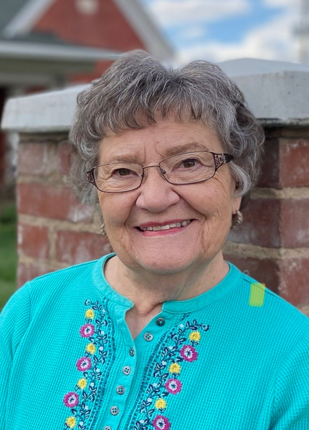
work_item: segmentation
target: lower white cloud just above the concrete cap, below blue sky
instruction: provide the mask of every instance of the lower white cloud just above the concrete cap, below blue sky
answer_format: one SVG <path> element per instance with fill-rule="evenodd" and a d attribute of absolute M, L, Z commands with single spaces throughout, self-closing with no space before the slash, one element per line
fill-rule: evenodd
<path fill-rule="evenodd" d="M 216 62 L 243 57 L 298 61 L 298 40 L 294 36 L 298 19 L 297 10 L 287 8 L 279 17 L 249 31 L 239 43 L 207 43 L 206 40 L 180 49 L 178 62 L 184 64 L 194 59 Z"/>

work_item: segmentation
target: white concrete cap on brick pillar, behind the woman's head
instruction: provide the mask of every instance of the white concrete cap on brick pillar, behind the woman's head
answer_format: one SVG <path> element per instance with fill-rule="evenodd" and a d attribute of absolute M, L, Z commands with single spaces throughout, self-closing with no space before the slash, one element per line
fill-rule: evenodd
<path fill-rule="evenodd" d="M 257 59 L 225 61 L 219 66 L 244 93 L 248 107 L 264 125 L 309 125 L 309 67 Z M 86 86 L 11 98 L 1 128 L 19 132 L 67 131 L 76 95 Z"/>

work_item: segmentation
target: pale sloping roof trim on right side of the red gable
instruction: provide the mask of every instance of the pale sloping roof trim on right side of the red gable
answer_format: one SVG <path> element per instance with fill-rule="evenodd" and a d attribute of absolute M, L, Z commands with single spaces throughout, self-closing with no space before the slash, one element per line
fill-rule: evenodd
<path fill-rule="evenodd" d="M 146 49 L 161 61 L 171 61 L 174 49 L 139 0 L 113 0 L 131 23 Z"/>

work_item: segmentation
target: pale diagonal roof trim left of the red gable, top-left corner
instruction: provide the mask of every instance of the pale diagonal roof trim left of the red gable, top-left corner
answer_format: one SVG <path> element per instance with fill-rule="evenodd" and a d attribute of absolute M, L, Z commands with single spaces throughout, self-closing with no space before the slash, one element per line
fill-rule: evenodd
<path fill-rule="evenodd" d="M 28 33 L 55 0 L 29 0 L 3 29 L 4 37 Z"/>

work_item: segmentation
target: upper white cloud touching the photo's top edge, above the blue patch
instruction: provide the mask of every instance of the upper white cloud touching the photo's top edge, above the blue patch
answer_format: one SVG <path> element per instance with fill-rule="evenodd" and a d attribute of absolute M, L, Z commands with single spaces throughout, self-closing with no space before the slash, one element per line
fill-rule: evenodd
<path fill-rule="evenodd" d="M 160 25 L 187 25 L 248 12 L 250 0 L 153 0 L 145 6 Z"/>

